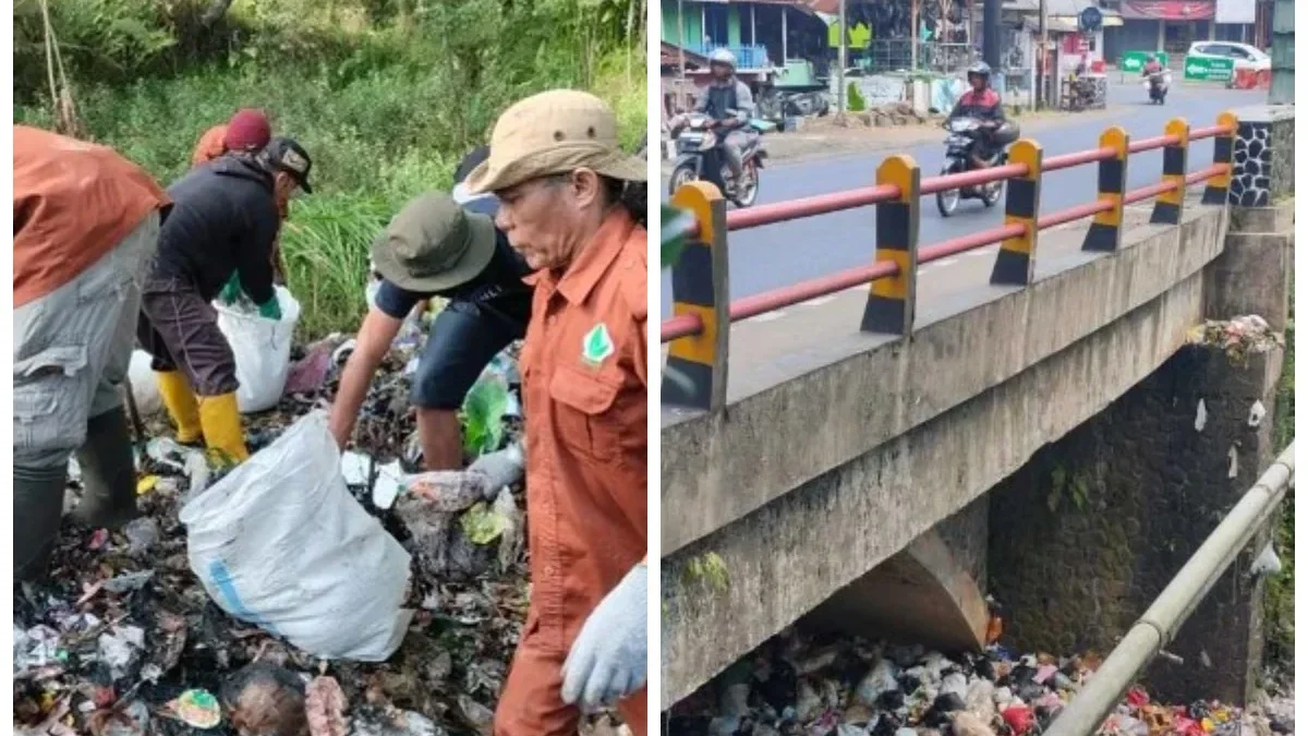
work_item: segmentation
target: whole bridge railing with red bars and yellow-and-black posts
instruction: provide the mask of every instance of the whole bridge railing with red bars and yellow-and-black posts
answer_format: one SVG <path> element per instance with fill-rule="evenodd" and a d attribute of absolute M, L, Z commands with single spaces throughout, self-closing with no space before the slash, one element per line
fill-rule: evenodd
<path fill-rule="evenodd" d="M 1082 249 L 1112 253 L 1121 245 L 1126 204 L 1155 199 L 1150 221 L 1180 224 L 1186 187 L 1201 182 L 1207 182 L 1203 204 L 1226 204 L 1236 122 L 1230 111 L 1205 128 L 1190 128 L 1184 118 L 1173 118 L 1163 135 L 1134 141 L 1114 126 L 1099 138 L 1097 148 L 1048 158 L 1037 141 L 1022 139 L 1010 147 L 1006 165 L 927 178 L 922 178 L 912 156 L 891 156 L 878 166 L 872 186 L 731 212 L 712 183 L 687 183 L 672 195 L 672 206 L 689 211 L 693 223 L 688 244 L 672 267 L 674 316 L 661 325 L 661 342 L 671 343 L 663 402 L 705 410 L 726 405 L 731 322 L 871 284 L 859 329 L 906 337 L 913 331 L 921 265 L 1001 244 L 990 283 L 1022 288 L 1033 279 L 1044 229 L 1093 217 Z M 1188 172 L 1190 141 L 1205 138 L 1215 139 L 1213 164 Z M 1163 151 L 1160 179 L 1127 191 L 1130 156 L 1155 149 Z M 1039 215 L 1044 174 L 1087 164 L 1097 165 L 1095 200 Z M 997 181 L 1007 181 L 1003 225 L 920 248 L 922 195 Z M 867 206 L 876 207 L 876 254 L 871 263 L 731 301 L 729 232 Z"/>

